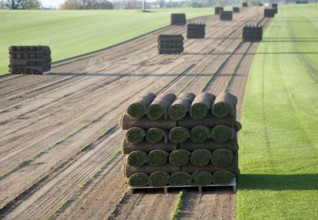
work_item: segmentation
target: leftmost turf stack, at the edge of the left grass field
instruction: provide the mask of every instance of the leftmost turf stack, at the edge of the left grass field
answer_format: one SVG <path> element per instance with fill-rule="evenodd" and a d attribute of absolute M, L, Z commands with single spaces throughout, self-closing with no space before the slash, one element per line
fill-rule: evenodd
<path fill-rule="evenodd" d="M 10 46 L 9 71 L 13 74 L 41 74 L 51 69 L 48 46 Z"/>

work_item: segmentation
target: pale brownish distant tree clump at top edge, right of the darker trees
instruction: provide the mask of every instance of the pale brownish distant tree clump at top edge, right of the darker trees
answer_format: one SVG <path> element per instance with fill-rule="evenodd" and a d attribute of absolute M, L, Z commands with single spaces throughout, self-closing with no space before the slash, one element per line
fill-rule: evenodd
<path fill-rule="evenodd" d="M 113 9 L 108 0 L 66 0 L 60 9 Z"/>

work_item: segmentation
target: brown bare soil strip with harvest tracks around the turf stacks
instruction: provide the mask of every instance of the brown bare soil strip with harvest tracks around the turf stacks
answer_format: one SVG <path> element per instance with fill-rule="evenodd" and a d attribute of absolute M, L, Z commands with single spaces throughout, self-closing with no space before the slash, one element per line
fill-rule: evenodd
<path fill-rule="evenodd" d="M 242 43 L 244 24 L 262 24 L 262 7 L 242 8 L 232 22 L 197 18 L 206 38 L 185 39 L 181 55 L 159 55 L 159 34 L 55 63 L 45 75 L 0 78 L 1 219 L 169 219 L 177 191 L 127 193 L 117 126 L 130 101 L 147 91 L 245 94 L 258 43 Z M 186 194 L 181 218 L 235 219 L 231 190 Z"/>

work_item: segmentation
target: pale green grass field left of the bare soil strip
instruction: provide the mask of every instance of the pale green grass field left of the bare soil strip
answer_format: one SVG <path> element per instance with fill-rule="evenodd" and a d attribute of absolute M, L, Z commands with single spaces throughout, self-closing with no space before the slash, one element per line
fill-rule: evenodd
<path fill-rule="evenodd" d="M 170 25 L 171 13 L 187 19 L 210 15 L 213 8 L 135 10 L 0 10 L 0 74 L 8 72 L 10 45 L 48 45 L 53 61 L 88 53 Z"/>

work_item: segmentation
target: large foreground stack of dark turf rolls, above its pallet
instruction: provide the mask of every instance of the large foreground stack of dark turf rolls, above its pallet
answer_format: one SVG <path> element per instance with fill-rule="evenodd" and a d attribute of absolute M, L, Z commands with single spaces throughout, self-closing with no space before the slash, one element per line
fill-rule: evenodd
<path fill-rule="evenodd" d="M 120 118 L 128 184 L 230 184 L 239 175 L 236 104 L 229 92 L 138 96 Z"/>

